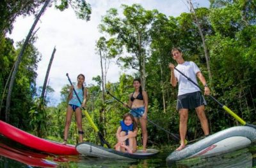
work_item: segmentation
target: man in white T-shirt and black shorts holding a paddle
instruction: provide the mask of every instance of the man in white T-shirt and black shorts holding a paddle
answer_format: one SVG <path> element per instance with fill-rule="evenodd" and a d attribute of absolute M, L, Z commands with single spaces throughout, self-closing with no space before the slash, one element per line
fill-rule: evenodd
<path fill-rule="evenodd" d="M 205 81 L 203 74 L 200 69 L 194 62 L 185 61 L 182 57 L 182 52 L 179 48 L 172 49 L 172 58 L 176 60 L 178 63 L 177 69 L 184 73 L 188 78 L 191 78 L 197 84 L 196 76 L 204 85 L 204 94 L 209 95 L 210 89 Z M 177 99 L 177 110 L 180 115 L 180 146 L 177 148 L 177 151 L 185 148 L 185 137 L 187 132 L 187 122 L 188 122 L 188 110 L 195 109 L 196 114 L 200 120 L 202 129 L 204 130 L 205 136 L 209 135 L 209 127 L 207 118 L 205 116 L 205 100 L 203 95 L 200 92 L 200 88 L 196 87 L 191 81 L 182 76 L 178 71 L 175 71 L 174 65 L 172 63 L 169 64 L 169 68 L 171 70 L 171 83 L 173 87 L 177 86 L 179 83 L 179 93 Z"/>

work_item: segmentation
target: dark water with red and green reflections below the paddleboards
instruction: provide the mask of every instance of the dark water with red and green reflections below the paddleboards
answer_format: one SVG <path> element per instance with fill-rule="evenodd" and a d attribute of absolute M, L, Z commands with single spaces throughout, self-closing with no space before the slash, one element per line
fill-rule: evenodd
<path fill-rule="evenodd" d="M 256 165 L 256 145 L 216 157 L 190 158 L 168 167 L 253 167 Z M 52 155 L 40 153 L 0 135 L 0 167 L 167 167 L 170 151 L 147 160 L 114 160 L 81 155 Z"/>

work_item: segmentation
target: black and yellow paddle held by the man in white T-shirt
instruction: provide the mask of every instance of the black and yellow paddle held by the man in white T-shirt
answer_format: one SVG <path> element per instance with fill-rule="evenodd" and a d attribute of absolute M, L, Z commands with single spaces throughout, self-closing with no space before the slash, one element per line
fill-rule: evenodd
<path fill-rule="evenodd" d="M 186 74 L 182 73 L 179 71 L 179 69 L 177 69 L 176 67 L 174 67 L 174 69 L 176 71 L 178 71 L 180 74 L 182 74 L 185 78 L 187 78 L 189 81 L 191 81 L 191 83 L 193 83 L 194 85 L 196 85 L 196 87 L 198 87 L 202 92 L 204 92 L 204 90 L 202 88 L 199 87 L 199 85 L 197 85 L 195 83 L 195 81 L 191 80 L 191 78 L 189 78 L 188 76 L 186 76 Z M 232 115 L 238 122 L 240 122 L 242 125 L 246 125 L 249 127 L 253 127 L 256 129 L 256 125 L 250 124 L 250 123 L 246 123 L 244 122 L 244 120 L 242 118 L 240 118 L 239 116 L 236 115 L 236 113 L 234 113 L 231 109 L 229 109 L 227 106 L 221 104 L 221 102 L 217 101 L 217 99 L 215 99 L 214 97 L 212 97 L 212 95 L 209 95 L 209 97 L 211 97 L 214 101 L 216 101 L 221 108 L 225 109 L 225 111 L 227 111 L 230 115 Z"/>

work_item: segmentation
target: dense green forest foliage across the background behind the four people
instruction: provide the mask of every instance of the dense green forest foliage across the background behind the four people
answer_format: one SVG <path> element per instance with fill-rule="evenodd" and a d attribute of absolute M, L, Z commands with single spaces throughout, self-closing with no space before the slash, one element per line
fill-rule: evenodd
<path fill-rule="evenodd" d="M 60 10 L 70 5 L 69 1 L 61 1 Z M 77 1 L 78 2 L 78 1 Z M 62 5 L 62 6 L 61 6 Z M 196 17 L 202 27 L 210 55 L 212 71 L 211 94 L 241 116 L 246 122 L 256 124 L 256 27 L 255 1 L 211 1 L 211 8 L 196 9 Z M 119 17 L 118 10 L 109 9 L 99 25 L 100 31 L 106 32 L 109 39 L 104 37 L 97 41 L 97 49 L 106 52 L 108 58 L 118 58 L 124 68 L 140 70 L 141 59 L 145 58 L 145 77 L 149 106 L 148 118 L 157 125 L 173 133 L 179 133 L 179 113 L 176 109 L 177 88 L 170 85 L 169 62 L 173 61 L 170 49 L 180 46 L 186 60 L 196 62 L 207 78 L 202 39 L 191 13 L 182 13 L 179 17 L 166 17 L 156 10 L 145 10 L 138 4 L 122 5 L 124 17 Z M 32 41 L 33 43 L 33 41 Z M 3 38 L 0 43 L 0 73 L 1 94 L 3 86 L 11 71 L 19 49 L 13 48 L 11 39 Z M 19 127 L 28 124 L 31 127 L 43 129 L 48 136 L 63 138 L 65 111 L 69 86 L 61 90 L 61 102 L 57 107 L 38 106 L 37 101 L 31 109 L 29 118 L 28 108 L 31 107 L 35 95 L 36 64 L 40 60 L 36 48 L 31 44 L 20 65 L 19 77 L 14 88 L 12 106 L 12 122 Z M 140 57 L 143 55 L 143 57 Z M 145 57 L 144 57 L 145 56 Z M 1 69 L 2 70 L 2 69 Z M 106 90 L 115 95 L 120 101 L 128 102 L 129 94 L 134 91 L 132 80 L 141 73 L 131 75 L 121 74 L 118 82 L 106 83 Z M 97 85 L 88 85 L 88 102 L 86 109 L 92 116 L 93 122 L 101 132 L 106 134 L 107 141 L 113 146 L 116 143 L 116 129 L 122 116 L 129 112 L 120 102 L 108 94 L 102 102 L 100 76 L 93 78 Z M 201 84 L 200 84 L 201 85 Z M 218 132 L 239 123 L 218 107 L 216 102 L 207 98 L 206 113 L 209 119 L 211 133 Z M 3 107 L 4 108 L 4 107 Z M 2 109 L 3 109 L 2 108 Z M 102 115 L 102 109 L 106 109 Z M 22 109 L 22 110 L 20 110 Z M 43 112 L 36 113 L 41 110 Z M 3 116 L 3 113 L 2 115 Z M 22 118 L 22 120 L 21 120 Z M 106 123 L 102 122 L 102 118 Z M 44 128 L 47 127 L 47 130 Z M 168 134 L 148 123 L 148 145 L 161 146 L 172 144 L 174 141 Z M 29 128 L 27 128 L 29 129 Z M 86 118 L 83 118 L 84 141 L 99 144 L 99 137 L 92 129 Z M 139 131 L 140 132 L 140 131 Z M 189 111 L 188 139 L 196 139 L 203 135 L 200 122 L 195 111 Z M 76 121 L 68 135 L 68 143 L 76 143 Z M 140 144 L 141 135 L 138 135 Z"/>

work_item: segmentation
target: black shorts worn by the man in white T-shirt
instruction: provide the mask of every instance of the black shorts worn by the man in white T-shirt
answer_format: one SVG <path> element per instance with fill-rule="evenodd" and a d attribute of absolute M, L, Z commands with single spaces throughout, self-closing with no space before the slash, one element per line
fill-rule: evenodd
<path fill-rule="evenodd" d="M 200 91 L 189 94 L 179 95 L 177 100 L 177 110 L 195 109 L 199 106 L 206 105 L 204 95 Z"/>

